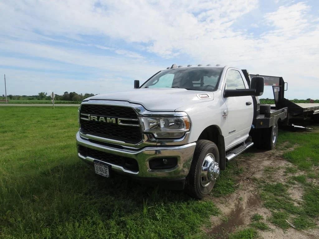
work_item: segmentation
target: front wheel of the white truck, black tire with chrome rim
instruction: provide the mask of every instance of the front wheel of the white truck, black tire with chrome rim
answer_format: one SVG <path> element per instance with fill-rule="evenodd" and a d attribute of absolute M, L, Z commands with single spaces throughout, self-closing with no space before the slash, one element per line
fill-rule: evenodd
<path fill-rule="evenodd" d="M 219 172 L 217 145 L 208 140 L 199 140 L 186 178 L 186 190 L 189 195 L 197 199 L 202 199 L 208 195 L 219 177 Z M 201 177 L 201 175 L 204 176 Z"/>

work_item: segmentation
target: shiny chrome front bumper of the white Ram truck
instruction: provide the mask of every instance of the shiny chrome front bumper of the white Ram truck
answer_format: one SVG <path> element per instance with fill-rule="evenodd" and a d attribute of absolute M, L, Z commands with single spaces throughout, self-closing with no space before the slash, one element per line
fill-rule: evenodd
<path fill-rule="evenodd" d="M 193 154 L 195 151 L 196 143 L 189 143 L 181 146 L 165 146 L 165 147 L 145 147 L 137 150 L 127 148 L 113 148 L 111 146 L 101 145 L 80 136 L 79 132 L 76 135 L 77 145 L 82 145 L 87 148 L 92 148 L 109 154 L 128 157 L 135 159 L 138 164 L 138 171 L 131 171 L 123 168 L 122 166 L 108 163 L 112 166 L 112 170 L 131 175 L 139 178 L 148 179 L 182 179 L 189 173 L 189 168 L 192 162 Z M 86 163 L 93 164 L 96 160 L 90 156 L 83 156 L 78 152 L 78 156 Z M 154 157 L 176 157 L 177 165 L 171 169 L 152 170 L 149 167 L 149 160 Z"/>

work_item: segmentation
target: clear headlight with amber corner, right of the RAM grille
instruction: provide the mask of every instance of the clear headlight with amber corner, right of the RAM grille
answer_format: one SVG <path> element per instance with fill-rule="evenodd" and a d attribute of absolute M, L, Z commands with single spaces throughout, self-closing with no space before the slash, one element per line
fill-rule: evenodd
<path fill-rule="evenodd" d="M 180 138 L 190 129 L 190 121 L 183 117 L 140 117 L 141 129 L 157 138 Z"/>

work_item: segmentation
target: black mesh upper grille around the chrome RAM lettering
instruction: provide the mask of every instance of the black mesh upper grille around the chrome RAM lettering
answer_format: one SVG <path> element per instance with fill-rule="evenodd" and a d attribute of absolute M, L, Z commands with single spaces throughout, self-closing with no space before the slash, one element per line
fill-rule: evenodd
<path fill-rule="evenodd" d="M 130 107 L 112 105 L 81 105 L 80 113 L 116 119 L 115 124 L 81 119 L 81 132 L 83 134 L 92 134 L 132 144 L 136 144 L 142 140 L 140 127 L 117 124 L 117 118 L 138 119 L 136 112 Z"/>

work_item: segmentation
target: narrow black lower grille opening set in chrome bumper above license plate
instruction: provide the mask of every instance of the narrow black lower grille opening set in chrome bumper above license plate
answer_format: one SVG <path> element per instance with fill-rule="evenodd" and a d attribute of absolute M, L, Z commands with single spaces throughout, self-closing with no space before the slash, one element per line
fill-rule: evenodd
<path fill-rule="evenodd" d="M 87 148 L 82 145 L 78 146 L 78 151 L 81 155 L 85 157 L 88 156 L 94 159 L 101 160 L 105 163 L 112 163 L 115 165 L 119 165 L 127 170 L 136 171 L 136 172 L 138 171 L 137 161 L 133 158 L 109 154 L 109 153 L 102 152 L 93 148 Z"/>

